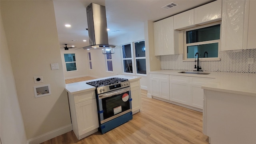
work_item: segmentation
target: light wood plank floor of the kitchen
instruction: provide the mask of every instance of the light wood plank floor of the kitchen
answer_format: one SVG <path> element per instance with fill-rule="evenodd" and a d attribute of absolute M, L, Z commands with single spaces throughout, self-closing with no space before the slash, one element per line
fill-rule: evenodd
<path fill-rule="evenodd" d="M 146 90 L 141 96 L 141 112 L 105 134 L 77 140 L 71 131 L 42 144 L 208 144 L 208 136 L 202 134 L 202 112 L 148 98 Z"/>

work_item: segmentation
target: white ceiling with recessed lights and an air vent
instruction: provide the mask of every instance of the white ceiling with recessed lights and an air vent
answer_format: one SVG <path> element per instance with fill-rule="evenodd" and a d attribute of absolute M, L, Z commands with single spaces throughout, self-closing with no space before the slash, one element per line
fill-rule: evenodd
<path fill-rule="evenodd" d="M 144 29 L 144 21 L 157 21 L 195 8 L 212 0 L 54 0 L 60 47 L 89 45 L 86 7 L 90 3 L 106 6 L 108 39 Z M 170 9 L 161 8 L 174 2 Z M 71 27 L 65 27 L 70 24 Z M 83 40 L 87 40 L 84 42 Z"/>

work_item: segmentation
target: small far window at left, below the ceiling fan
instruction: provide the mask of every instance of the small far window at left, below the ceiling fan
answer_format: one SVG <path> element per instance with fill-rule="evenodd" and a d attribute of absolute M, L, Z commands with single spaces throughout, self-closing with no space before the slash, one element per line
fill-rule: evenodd
<path fill-rule="evenodd" d="M 75 54 L 64 54 L 64 59 L 66 63 L 67 72 L 77 70 Z"/>

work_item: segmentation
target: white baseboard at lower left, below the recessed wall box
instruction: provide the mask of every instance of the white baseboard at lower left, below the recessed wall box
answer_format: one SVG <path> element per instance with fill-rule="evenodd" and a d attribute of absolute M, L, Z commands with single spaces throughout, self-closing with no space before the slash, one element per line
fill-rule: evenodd
<path fill-rule="evenodd" d="M 51 132 L 47 132 L 46 134 L 42 134 L 41 136 L 31 138 L 30 140 L 28 140 L 28 143 L 29 144 L 40 144 L 42 142 L 45 142 L 46 140 L 50 140 L 52 138 L 55 138 L 56 136 L 60 136 L 62 134 L 70 132 L 71 130 L 72 130 L 72 124 L 69 124 L 69 125 L 64 126 L 62 128 L 58 128 L 58 129 L 53 130 Z"/>

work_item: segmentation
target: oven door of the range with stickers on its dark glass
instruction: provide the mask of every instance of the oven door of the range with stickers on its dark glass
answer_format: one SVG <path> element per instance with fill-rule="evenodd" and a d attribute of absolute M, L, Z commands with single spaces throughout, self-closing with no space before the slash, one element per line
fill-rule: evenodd
<path fill-rule="evenodd" d="M 98 95 L 100 124 L 132 111 L 131 88 L 122 88 Z"/>

